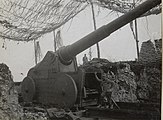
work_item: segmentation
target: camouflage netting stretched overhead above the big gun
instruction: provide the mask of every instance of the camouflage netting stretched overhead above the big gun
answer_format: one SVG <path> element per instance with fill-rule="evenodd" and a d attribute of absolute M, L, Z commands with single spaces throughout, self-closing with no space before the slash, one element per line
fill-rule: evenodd
<path fill-rule="evenodd" d="M 144 0 L 1 0 L 0 37 L 14 41 L 36 40 L 74 18 L 91 3 L 127 13 Z M 161 13 L 161 5 L 144 16 Z"/>

